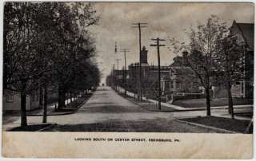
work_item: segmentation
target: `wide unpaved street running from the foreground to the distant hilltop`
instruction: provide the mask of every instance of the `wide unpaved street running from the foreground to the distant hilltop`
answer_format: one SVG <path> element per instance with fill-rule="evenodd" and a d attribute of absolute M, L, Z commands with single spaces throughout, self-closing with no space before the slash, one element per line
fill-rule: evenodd
<path fill-rule="evenodd" d="M 78 112 L 49 121 L 58 125 L 47 131 L 58 132 L 210 132 L 179 123 L 173 112 L 147 111 L 110 87 L 99 87 Z"/>

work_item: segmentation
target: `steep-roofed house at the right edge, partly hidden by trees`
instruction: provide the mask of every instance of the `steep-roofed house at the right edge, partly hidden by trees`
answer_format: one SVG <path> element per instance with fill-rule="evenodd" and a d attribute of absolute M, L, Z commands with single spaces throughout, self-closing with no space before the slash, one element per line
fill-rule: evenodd
<path fill-rule="evenodd" d="M 254 95 L 254 24 L 238 23 L 234 20 L 230 32 L 235 35 L 238 44 L 244 45 L 244 78 L 232 85 L 231 92 L 234 97 L 251 98 Z M 222 84 L 214 88 L 215 97 L 227 96 Z"/>

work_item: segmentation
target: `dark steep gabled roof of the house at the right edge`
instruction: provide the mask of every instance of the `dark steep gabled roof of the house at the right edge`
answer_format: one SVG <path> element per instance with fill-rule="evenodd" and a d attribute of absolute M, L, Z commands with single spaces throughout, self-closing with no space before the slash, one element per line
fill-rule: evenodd
<path fill-rule="evenodd" d="M 249 45 L 250 49 L 254 49 L 254 23 L 238 23 L 238 28 L 242 33 L 242 37 L 246 41 L 247 45 Z"/>

